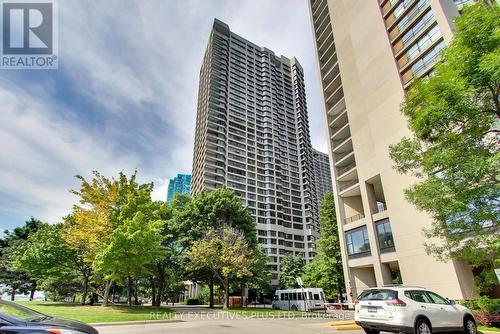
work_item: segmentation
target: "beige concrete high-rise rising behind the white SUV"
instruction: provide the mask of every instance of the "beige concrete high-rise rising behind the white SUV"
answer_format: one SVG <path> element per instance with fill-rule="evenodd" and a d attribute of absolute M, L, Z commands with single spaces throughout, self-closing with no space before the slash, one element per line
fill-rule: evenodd
<path fill-rule="evenodd" d="M 453 36 L 452 0 L 310 0 L 324 94 L 348 293 L 391 283 L 454 298 L 473 291 L 470 267 L 427 255 L 432 223 L 404 196 L 416 180 L 394 170 L 389 145 L 410 136 L 400 105 L 432 73 Z"/>

